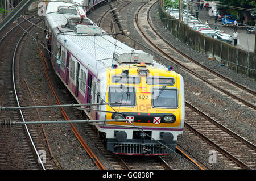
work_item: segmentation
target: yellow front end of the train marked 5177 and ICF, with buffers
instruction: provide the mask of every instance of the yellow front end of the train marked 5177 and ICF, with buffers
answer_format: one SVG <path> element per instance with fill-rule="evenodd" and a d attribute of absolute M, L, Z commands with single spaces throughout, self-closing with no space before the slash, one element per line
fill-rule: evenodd
<path fill-rule="evenodd" d="M 155 64 L 113 66 L 106 70 L 106 119 L 99 127 L 107 149 L 116 154 L 166 155 L 175 150 L 185 120 L 184 82 L 180 74 Z"/>

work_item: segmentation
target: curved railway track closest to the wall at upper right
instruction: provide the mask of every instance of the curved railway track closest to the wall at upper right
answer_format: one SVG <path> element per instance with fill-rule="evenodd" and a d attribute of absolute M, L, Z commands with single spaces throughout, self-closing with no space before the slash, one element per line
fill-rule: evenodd
<path fill-rule="evenodd" d="M 168 41 L 156 31 L 150 19 L 150 9 L 156 2 L 158 1 L 144 3 L 135 15 L 136 26 L 144 39 L 146 39 L 154 49 L 158 50 L 163 57 L 166 57 L 180 68 L 188 71 L 192 76 L 204 81 L 207 85 L 212 86 L 213 89 L 217 89 L 221 94 L 230 96 L 230 99 L 241 104 L 241 106 L 247 106 L 248 108 L 256 110 L 255 91 L 247 89 L 247 87 L 244 87 L 200 64 L 200 62 L 197 62 L 168 43 Z M 145 19 L 147 19 L 147 21 L 145 21 Z M 173 52 L 180 54 L 182 58 L 173 57 L 171 55 Z"/>

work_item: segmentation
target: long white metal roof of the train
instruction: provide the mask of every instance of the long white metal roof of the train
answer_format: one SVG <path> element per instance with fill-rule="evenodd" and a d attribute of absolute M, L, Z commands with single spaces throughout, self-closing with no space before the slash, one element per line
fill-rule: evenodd
<path fill-rule="evenodd" d="M 91 66 L 90 69 L 93 69 L 94 73 L 98 73 L 101 69 L 111 67 L 112 64 L 127 65 L 129 62 L 133 62 L 137 56 L 137 58 L 139 57 L 139 59 L 142 59 L 143 62 L 148 63 L 150 66 L 167 69 L 166 66 L 154 61 L 150 54 L 142 50 L 135 50 L 107 35 L 92 20 L 85 17 L 82 7 L 71 7 L 75 4 L 82 5 L 82 1 L 76 0 L 73 2 L 76 3 L 49 2 L 46 19 L 51 30 L 57 33 L 56 39 L 59 43 L 67 48 L 84 66 Z M 69 8 L 67 9 L 67 7 Z M 77 14 L 74 9 L 77 10 Z M 63 12 L 60 12 L 61 10 Z M 65 11 L 68 11 L 68 13 L 65 13 Z M 72 24 L 74 19 L 82 19 L 86 23 L 65 26 L 69 20 Z M 86 60 L 82 57 L 86 57 Z M 128 60 L 121 61 L 122 59 Z"/>

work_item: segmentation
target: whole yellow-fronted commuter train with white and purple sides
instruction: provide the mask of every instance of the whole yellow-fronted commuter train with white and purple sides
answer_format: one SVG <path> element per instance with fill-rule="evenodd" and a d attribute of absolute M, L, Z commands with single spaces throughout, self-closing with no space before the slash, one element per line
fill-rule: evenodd
<path fill-rule="evenodd" d="M 52 37 L 56 75 L 80 104 L 118 103 L 84 107 L 92 120 L 127 120 L 95 125 L 108 150 L 126 155 L 170 154 L 183 133 L 183 77 L 151 54 L 109 36 L 86 17 L 82 4 L 78 0 L 48 3 L 45 23 Z"/>

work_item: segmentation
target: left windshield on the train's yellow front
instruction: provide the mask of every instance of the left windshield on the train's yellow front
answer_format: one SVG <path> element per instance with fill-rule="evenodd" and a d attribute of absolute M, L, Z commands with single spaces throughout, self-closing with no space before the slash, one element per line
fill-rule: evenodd
<path fill-rule="evenodd" d="M 124 85 L 109 87 L 109 102 L 121 102 L 121 107 L 135 106 L 135 88 Z"/>

